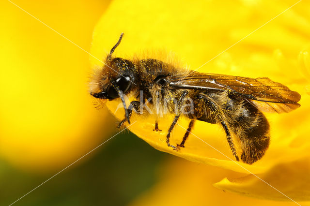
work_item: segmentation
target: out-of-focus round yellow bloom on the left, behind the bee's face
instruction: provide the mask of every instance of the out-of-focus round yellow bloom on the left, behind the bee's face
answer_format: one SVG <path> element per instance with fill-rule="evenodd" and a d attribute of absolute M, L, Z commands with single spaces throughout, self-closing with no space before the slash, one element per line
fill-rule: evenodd
<path fill-rule="evenodd" d="M 109 5 L 14 2 L 85 50 Z M 60 169 L 101 143 L 101 134 L 112 131 L 106 125 L 114 125 L 89 97 L 89 55 L 9 1 L 0 7 L 0 155 L 26 170 Z"/>

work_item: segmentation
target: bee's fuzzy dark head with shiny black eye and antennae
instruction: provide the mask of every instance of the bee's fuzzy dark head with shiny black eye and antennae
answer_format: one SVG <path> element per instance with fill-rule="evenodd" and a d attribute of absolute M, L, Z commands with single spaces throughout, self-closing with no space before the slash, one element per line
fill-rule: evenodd
<path fill-rule="evenodd" d="M 111 49 L 102 70 L 93 76 L 90 94 L 98 99 L 113 100 L 120 98 L 129 122 L 124 95 L 128 94 L 136 86 L 134 82 L 137 79 L 138 69 L 130 60 L 112 58 L 112 53 L 121 43 L 123 34 Z"/>

